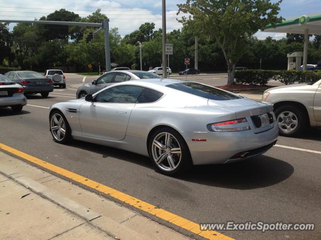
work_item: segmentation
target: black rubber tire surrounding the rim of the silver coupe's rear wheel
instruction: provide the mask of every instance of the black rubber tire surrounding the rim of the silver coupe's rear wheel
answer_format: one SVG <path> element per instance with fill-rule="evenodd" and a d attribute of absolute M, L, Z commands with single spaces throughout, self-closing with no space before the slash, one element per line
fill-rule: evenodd
<path fill-rule="evenodd" d="M 174 136 L 175 137 L 174 141 L 176 142 L 176 140 L 177 140 L 177 143 L 179 144 L 179 146 L 181 148 L 180 161 L 178 161 L 179 163 L 174 170 L 162 169 L 162 167 L 160 167 L 156 164 L 154 157 L 153 157 L 153 151 L 152 151 L 153 141 L 157 136 L 161 135 L 162 133 L 169 133 L 172 136 Z M 168 127 L 159 128 L 151 134 L 151 136 L 149 138 L 149 142 L 148 142 L 148 153 L 150 156 L 150 160 L 151 160 L 152 164 L 154 165 L 154 168 L 156 169 L 156 171 L 161 172 L 165 175 L 182 174 L 182 173 L 188 171 L 193 166 L 190 150 L 189 150 L 185 140 L 177 131 L 175 131 L 172 128 L 168 128 Z M 176 157 L 178 157 L 178 156 L 176 156 Z M 177 160 L 175 158 L 173 158 L 173 160 L 177 162 Z M 167 162 L 165 164 L 169 164 L 169 160 L 166 161 L 164 159 L 164 161 Z"/>

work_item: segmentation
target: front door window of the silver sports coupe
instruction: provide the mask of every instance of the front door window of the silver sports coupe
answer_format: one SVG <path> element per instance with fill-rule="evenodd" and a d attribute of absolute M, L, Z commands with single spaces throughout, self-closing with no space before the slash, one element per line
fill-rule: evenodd
<path fill-rule="evenodd" d="M 96 102 L 135 103 L 144 87 L 120 85 L 108 88 L 97 94 Z"/>

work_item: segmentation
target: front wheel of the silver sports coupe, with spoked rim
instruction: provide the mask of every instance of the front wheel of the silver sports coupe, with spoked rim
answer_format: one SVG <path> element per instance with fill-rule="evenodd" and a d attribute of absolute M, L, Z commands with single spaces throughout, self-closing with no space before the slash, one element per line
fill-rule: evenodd
<path fill-rule="evenodd" d="M 50 133 L 57 143 L 67 143 L 71 139 L 71 129 L 66 117 L 59 110 L 50 114 Z"/>

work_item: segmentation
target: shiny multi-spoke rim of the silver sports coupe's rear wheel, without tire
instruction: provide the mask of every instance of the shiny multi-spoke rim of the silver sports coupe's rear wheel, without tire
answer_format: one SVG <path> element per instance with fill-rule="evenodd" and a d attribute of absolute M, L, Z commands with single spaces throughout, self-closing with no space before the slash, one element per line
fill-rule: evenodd
<path fill-rule="evenodd" d="M 170 133 L 160 133 L 154 138 L 151 154 L 156 165 L 167 172 L 175 170 L 182 158 L 181 146 Z"/>

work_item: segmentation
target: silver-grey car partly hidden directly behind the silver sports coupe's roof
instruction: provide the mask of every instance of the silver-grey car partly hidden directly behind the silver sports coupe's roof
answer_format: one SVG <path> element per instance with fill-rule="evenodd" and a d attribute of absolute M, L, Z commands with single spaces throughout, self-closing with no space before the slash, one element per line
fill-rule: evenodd
<path fill-rule="evenodd" d="M 145 71 L 136 70 L 115 70 L 101 75 L 91 83 L 84 84 L 77 89 L 76 97 L 85 97 L 87 94 L 94 94 L 95 92 L 115 84 L 117 82 L 124 82 L 128 80 L 148 79 L 148 78 L 161 78 L 158 75 Z"/>

